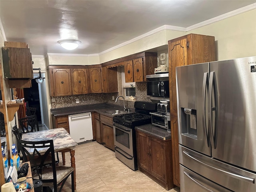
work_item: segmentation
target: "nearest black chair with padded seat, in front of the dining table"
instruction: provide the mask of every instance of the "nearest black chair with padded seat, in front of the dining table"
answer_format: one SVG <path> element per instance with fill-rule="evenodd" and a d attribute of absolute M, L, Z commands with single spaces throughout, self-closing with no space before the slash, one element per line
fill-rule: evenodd
<path fill-rule="evenodd" d="M 24 161 L 30 160 L 30 163 L 36 165 L 32 172 L 34 179 L 40 179 L 43 182 L 43 186 L 47 186 L 54 189 L 57 192 L 57 187 L 60 186 L 59 192 L 61 192 L 64 183 L 71 175 L 72 180 L 72 192 L 74 192 L 74 168 L 66 166 L 56 166 L 52 163 L 51 166 L 45 166 L 45 160 L 50 155 L 52 162 L 55 162 L 54 145 L 53 140 L 44 141 L 24 141 L 19 140 L 21 152 L 24 157 Z M 46 152 L 42 154 L 42 148 Z M 40 162 L 38 162 L 40 159 Z"/>

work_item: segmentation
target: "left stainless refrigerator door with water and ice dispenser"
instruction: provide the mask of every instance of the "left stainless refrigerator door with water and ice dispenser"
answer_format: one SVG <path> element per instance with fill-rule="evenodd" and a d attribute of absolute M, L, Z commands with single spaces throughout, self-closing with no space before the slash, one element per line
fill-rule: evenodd
<path fill-rule="evenodd" d="M 209 63 L 176 67 L 179 143 L 210 156 Z"/>

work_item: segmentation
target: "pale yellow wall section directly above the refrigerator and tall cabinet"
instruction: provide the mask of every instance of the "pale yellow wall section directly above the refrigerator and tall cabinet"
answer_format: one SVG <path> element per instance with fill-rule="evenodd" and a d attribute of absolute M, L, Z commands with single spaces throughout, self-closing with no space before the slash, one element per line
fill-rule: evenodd
<path fill-rule="evenodd" d="M 217 60 L 256 56 L 256 9 L 189 33 L 215 36 Z"/>

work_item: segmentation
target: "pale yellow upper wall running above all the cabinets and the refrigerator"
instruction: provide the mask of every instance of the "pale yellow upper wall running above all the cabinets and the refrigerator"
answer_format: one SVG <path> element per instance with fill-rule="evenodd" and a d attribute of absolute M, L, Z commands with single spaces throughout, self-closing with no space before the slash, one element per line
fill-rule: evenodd
<path fill-rule="evenodd" d="M 256 9 L 191 30 L 162 30 L 128 45 L 94 56 L 50 56 L 50 65 L 100 64 L 168 44 L 168 40 L 190 33 L 215 36 L 217 60 L 256 55 Z"/>

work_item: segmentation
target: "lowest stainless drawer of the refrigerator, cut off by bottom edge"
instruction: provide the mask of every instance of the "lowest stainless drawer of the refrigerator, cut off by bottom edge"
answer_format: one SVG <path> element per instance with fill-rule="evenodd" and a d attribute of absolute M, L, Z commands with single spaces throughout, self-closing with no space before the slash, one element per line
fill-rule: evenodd
<path fill-rule="evenodd" d="M 180 165 L 180 192 L 232 192 Z"/>

